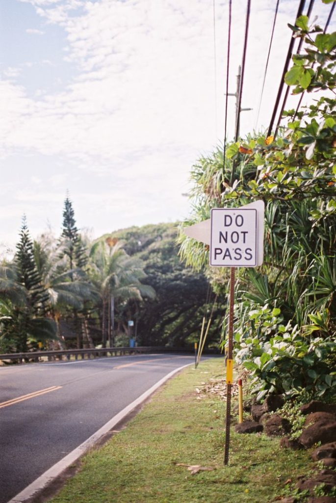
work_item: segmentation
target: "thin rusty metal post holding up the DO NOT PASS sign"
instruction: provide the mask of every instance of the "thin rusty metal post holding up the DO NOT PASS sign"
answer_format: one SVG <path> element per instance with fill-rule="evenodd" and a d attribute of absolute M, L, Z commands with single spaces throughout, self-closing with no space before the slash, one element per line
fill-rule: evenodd
<path fill-rule="evenodd" d="M 234 340 L 235 272 L 236 268 L 232 267 L 230 271 L 229 345 L 228 345 L 228 360 L 230 361 L 232 361 L 233 357 L 233 340 Z M 225 465 L 229 463 L 231 394 L 232 394 L 232 382 L 229 382 L 229 379 L 227 378 L 227 416 L 225 423 L 225 448 L 224 448 Z"/>

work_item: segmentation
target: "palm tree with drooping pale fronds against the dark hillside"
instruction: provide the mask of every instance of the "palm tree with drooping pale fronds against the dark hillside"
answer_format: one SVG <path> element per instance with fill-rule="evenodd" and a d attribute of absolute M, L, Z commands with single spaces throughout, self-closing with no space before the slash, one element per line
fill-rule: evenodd
<path fill-rule="evenodd" d="M 97 241 L 90 250 L 89 276 L 99 292 L 101 301 L 102 346 L 107 339 L 114 343 L 115 304 L 126 305 L 130 300 L 154 298 L 155 291 L 141 280 L 146 277 L 143 262 L 127 255 L 123 244 L 109 238 Z M 111 337 L 111 339 L 110 339 Z"/>

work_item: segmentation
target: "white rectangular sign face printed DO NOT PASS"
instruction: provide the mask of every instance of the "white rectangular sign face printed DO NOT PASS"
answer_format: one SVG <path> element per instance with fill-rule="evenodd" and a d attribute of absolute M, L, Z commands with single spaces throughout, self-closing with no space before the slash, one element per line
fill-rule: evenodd
<path fill-rule="evenodd" d="M 211 210 L 210 266 L 257 266 L 257 210 Z"/>

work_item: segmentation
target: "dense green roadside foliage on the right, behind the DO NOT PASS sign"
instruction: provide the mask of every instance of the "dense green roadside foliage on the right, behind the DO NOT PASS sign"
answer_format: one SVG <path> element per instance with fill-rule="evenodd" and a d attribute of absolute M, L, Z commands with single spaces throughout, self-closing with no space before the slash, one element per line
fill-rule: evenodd
<path fill-rule="evenodd" d="M 331 398 L 336 391 L 336 34 L 309 28 L 305 16 L 291 28 L 306 47 L 285 81 L 294 94 L 323 96 L 284 112 L 287 123 L 273 136 L 231 142 L 225 159 L 219 148 L 201 157 L 191 173 L 194 215 L 185 223 L 209 218 L 211 208 L 265 202 L 264 264 L 239 270 L 235 309 L 236 355 L 259 399 L 269 392 Z M 180 242 L 182 258 L 220 284 L 207 266 L 207 246 L 183 232 Z"/>

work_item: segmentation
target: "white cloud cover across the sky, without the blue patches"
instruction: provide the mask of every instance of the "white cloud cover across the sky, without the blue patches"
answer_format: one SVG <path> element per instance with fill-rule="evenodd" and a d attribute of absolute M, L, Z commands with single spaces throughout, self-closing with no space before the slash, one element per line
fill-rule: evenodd
<path fill-rule="evenodd" d="M 50 93 L 39 83 L 29 97 L 24 81 L 19 86 L 14 80 L 17 69 L 3 73 L 0 157 L 18 151 L 23 159 L 44 155 L 46 171 L 48 158 L 62 159 L 68 169 L 67 175 L 63 166 L 60 175 L 48 173 L 44 191 L 41 186 L 44 195 L 20 187 L 17 200 L 35 201 L 39 208 L 50 200 L 56 207 L 66 184 L 78 177 L 88 188 L 83 182 L 71 193 L 83 201 L 83 218 L 90 206 L 89 226 L 101 222 L 102 227 L 107 214 L 113 215 L 111 229 L 113 222 L 123 226 L 116 215 L 130 224 L 132 215 L 138 224 L 168 213 L 173 219 L 182 216 L 188 203 L 180 194 L 186 191 L 190 166 L 223 138 L 228 3 L 215 2 L 215 75 L 212 0 L 21 2 L 42 18 L 45 37 L 52 25 L 63 30 L 64 60 L 76 69 L 76 77 L 69 82 L 60 73 L 60 85 L 68 82 L 60 91 Z M 245 2 L 233 4 L 230 92 L 236 91 L 245 24 Z M 242 105 L 253 111 L 242 114 L 243 133 L 256 122 L 274 7 L 273 0 L 256 0 L 251 9 Z M 291 0 L 281 2 L 258 128 L 270 119 L 291 36 L 287 23 L 294 22 L 295 11 Z M 329 12 L 322 4 L 315 11 L 322 19 Z M 50 51 L 46 65 L 55 64 Z M 34 67 L 38 81 L 39 65 L 26 64 Z M 231 138 L 234 117 L 235 99 L 229 98 Z"/>

